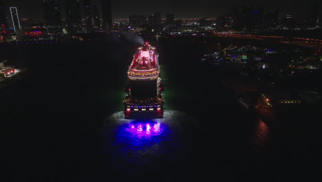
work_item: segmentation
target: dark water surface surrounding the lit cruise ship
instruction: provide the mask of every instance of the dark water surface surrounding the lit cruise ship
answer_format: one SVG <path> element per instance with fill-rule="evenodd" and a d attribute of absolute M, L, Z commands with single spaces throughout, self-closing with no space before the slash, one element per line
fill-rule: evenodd
<path fill-rule="evenodd" d="M 277 112 L 275 121 L 264 123 L 222 86 L 229 70 L 198 63 L 204 52 L 231 40 L 148 41 L 160 52 L 166 103 L 164 119 L 149 121 L 123 119 L 134 43 L 3 46 L 6 57 L 28 72 L 0 91 L 0 180 L 321 177 L 318 111 Z"/>

